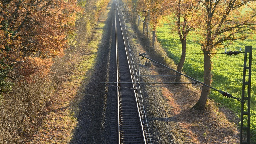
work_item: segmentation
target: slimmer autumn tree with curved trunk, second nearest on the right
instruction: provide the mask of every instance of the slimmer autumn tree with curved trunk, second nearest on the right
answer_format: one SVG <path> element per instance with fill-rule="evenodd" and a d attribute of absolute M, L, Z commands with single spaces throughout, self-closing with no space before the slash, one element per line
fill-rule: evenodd
<path fill-rule="evenodd" d="M 198 26 L 197 15 L 200 9 L 200 0 L 177 0 L 171 3 L 171 12 L 176 19 L 177 33 L 182 44 L 182 54 L 177 65 L 177 71 L 181 72 L 186 58 L 186 40 L 191 30 Z M 179 75 L 178 73 L 176 75 Z M 176 76 L 175 82 L 180 82 L 180 76 Z"/>

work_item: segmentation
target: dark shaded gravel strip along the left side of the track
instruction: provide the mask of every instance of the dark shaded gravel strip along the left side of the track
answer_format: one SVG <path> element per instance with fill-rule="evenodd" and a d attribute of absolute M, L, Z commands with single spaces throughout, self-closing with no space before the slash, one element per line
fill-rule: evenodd
<path fill-rule="evenodd" d="M 98 44 L 97 57 L 95 64 L 85 75 L 89 77 L 88 84 L 82 85 L 80 91 L 83 94 L 82 101 L 78 104 L 79 113 L 76 114 L 78 121 L 76 129 L 73 132 L 73 138 L 70 143 L 107 143 L 105 115 L 106 115 L 106 93 L 104 84 L 101 82 L 106 81 L 108 65 L 107 59 L 109 57 L 109 48 L 111 42 L 111 10 L 107 15 L 108 18 L 104 22 L 104 33 L 101 39 L 101 44 Z M 76 96 L 79 97 L 79 96 Z M 77 110 L 73 109 L 74 112 Z"/>

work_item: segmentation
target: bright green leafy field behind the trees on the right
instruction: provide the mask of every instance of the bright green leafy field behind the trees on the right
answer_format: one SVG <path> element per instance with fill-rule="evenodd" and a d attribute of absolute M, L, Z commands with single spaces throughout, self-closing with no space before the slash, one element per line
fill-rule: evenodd
<path fill-rule="evenodd" d="M 161 43 L 162 47 L 166 50 L 170 58 L 178 63 L 180 60 L 181 43 L 178 35 L 175 31 L 172 31 L 168 24 L 164 24 L 156 31 L 157 39 Z M 204 75 L 204 60 L 203 54 L 190 54 L 190 53 L 203 53 L 201 51 L 201 45 L 198 43 L 199 36 L 195 32 L 189 33 L 187 37 L 187 50 L 186 60 L 183 66 L 183 71 L 199 81 L 203 81 Z M 254 40 L 253 40 L 254 39 Z M 251 83 L 251 135 L 253 141 L 256 141 L 256 36 L 246 41 L 237 41 L 227 47 L 227 51 L 244 51 L 245 46 L 252 46 L 252 83 Z M 219 49 L 216 53 L 224 52 L 224 49 Z M 212 57 L 212 84 L 211 86 L 226 91 L 235 97 L 241 98 L 242 93 L 242 78 L 243 78 L 243 64 L 244 54 L 237 56 L 226 54 L 215 54 Z M 247 94 L 245 94 L 246 96 Z M 219 92 L 211 90 L 209 95 L 211 99 L 214 99 L 219 106 L 228 107 L 234 111 L 238 117 L 241 115 L 241 103 L 235 99 L 227 98 L 221 95 Z M 247 120 L 246 120 L 247 121 Z M 246 124 L 246 123 L 245 123 Z M 240 126 L 239 126 L 240 128 Z"/>

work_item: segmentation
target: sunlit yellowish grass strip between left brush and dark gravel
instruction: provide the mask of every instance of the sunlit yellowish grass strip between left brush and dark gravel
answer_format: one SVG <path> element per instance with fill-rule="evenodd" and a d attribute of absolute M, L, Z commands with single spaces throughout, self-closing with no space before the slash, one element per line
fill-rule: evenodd
<path fill-rule="evenodd" d="M 106 10 L 105 14 L 108 12 L 109 10 Z M 72 74 L 54 94 L 51 105 L 47 107 L 46 117 L 27 143 L 70 143 L 78 123 L 76 115 L 80 111 L 79 103 L 84 97 L 83 88 L 90 80 L 104 25 L 104 22 L 99 22 L 96 30 L 93 30 L 91 40 L 86 46 L 82 46 Z"/>

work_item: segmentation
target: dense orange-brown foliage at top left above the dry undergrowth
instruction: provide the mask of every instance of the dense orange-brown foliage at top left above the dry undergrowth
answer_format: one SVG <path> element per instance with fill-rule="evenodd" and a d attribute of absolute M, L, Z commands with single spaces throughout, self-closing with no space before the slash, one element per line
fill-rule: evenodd
<path fill-rule="evenodd" d="M 75 29 L 76 0 L 0 1 L 0 59 L 22 76 L 45 69 L 51 59 L 63 56 L 66 36 Z M 47 70 L 48 69 L 48 70 Z M 18 74 L 17 73 L 17 74 Z"/>

